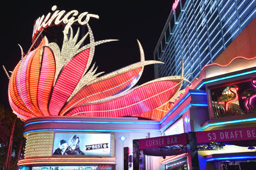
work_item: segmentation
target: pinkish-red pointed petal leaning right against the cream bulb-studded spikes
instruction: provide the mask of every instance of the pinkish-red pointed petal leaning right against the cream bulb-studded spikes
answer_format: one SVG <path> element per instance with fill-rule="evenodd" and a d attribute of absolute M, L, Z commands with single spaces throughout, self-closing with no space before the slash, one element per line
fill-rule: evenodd
<path fill-rule="evenodd" d="M 54 89 L 52 90 L 51 99 L 49 102 L 50 115 L 57 116 L 61 108 L 66 103 L 68 97 L 76 88 L 77 83 L 84 73 L 88 61 L 90 49 L 83 50 L 63 66 Z"/>

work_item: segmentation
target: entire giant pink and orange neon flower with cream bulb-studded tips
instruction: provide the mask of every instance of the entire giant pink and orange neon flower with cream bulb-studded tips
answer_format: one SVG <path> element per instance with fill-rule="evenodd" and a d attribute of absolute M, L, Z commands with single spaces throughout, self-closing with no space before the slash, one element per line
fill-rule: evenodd
<path fill-rule="evenodd" d="M 49 43 L 46 37 L 27 53 L 13 70 L 8 96 L 10 105 L 22 120 L 44 116 L 143 117 L 160 120 L 170 102 L 180 94 L 181 76 L 169 76 L 134 87 L 148 64 L 140 42 L 140 62 L 100 76 L 91 66 L 95 46 L 116 39 L 95 41 L 92 30 L 78 42 L 79 29 L 63 32 L 63 45 Z M 90 43 L 81 47 L 86 38 Z M 21 48 L 22 50 L 22 48 Z M 22 52 L 23 53 L 23 52 Z"/>

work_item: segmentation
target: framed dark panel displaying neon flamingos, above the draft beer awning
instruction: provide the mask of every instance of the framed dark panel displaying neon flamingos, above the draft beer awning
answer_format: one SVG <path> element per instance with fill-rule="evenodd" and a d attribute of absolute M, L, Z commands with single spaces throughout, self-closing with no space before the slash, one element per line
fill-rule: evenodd
<path fill-rule="evenodd" d="M 256 78 L 228 82 L 209 89 L 213 117 L 244 115 L 256 111 Z"/>

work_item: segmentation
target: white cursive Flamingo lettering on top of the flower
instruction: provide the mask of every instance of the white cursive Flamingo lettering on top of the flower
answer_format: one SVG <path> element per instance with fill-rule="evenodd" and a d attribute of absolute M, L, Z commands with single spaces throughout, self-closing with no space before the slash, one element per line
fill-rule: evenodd
<path fill-rule="evenodd" d="M 67 24 L 64 29 L 64 32 L 67 33 L 70 26 L 75 22 L 78 22 L 80 25 L 85 25 L 89 22 L 91 17 L 99 19 L 99 15 L 91 14 L 88 12 L 79 14 L 77 10 L 72 10 L 66 13 L 65 10 L 57 10 L 56 5 L 52 6 L 51 10 L 54 11 L 54 13 L 49 12 L 46 16 L 42 15 L 41 17 L 37 18 L 34 24 L 32 41 L 35 39 L 35 36 L 38 32 L 44 28 L 50 27 L 51 25 Z M 78 17 L 75 18 L 77 15 Z"/>

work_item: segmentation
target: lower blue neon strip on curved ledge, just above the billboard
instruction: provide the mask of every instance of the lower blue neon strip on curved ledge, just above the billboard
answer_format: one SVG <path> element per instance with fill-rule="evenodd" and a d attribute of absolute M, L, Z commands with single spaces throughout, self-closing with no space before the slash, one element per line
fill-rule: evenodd
<path fill-rule="evenodd" d="M 31 131 L 26 131 L 23 133 L 31 133 L 31 132 L 42 132 L 42 131 L 65 131 L 65 132 L 160 132 L 158 130 L 148 130 L 148 131 L 140 131 L 140 130 L 116 130 L 116 129 L 36 129 Z"/>

